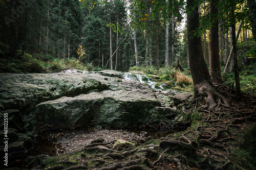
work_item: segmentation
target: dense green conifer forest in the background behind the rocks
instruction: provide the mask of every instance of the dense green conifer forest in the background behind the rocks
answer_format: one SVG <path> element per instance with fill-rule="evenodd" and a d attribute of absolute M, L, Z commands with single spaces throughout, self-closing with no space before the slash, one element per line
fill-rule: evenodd
<path fill-rule="evenodd" d="M 255 94 L 251 81 L 255 35 L 248 3 L 218 2 L 213 12 L 209 2 L 198 3 L 200 25 L 194 31 L 201 37 L 205 63 L 217 64 L 218 76 L 228 86 L 234 82 L 229 72 L 239 70 L 243 91 Z M 2 1 L 0 71 L 57 72 L 77 67 L 150 72 L 178 63 L 189 70 L 188 12 L 183 1 Z M 238 67 L 233 65 L 232 24 Z M 214 39 L 211 30 L 218 32 Z M 219 61 L 215 63 L 211 55 Z"/>

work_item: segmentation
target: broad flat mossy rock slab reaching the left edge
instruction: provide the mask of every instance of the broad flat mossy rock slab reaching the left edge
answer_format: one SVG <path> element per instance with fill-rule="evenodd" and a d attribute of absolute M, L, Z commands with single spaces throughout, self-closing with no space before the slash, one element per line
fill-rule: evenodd
<path fill-rule="evenodd" d="M 116 78 L 98 74 L 0 74 L 0 110 L 32 109 L 35 105 L 76 96 L 91 90 L 102 91 Z M 30 110 L 31 111 L 31 110 Z"/>

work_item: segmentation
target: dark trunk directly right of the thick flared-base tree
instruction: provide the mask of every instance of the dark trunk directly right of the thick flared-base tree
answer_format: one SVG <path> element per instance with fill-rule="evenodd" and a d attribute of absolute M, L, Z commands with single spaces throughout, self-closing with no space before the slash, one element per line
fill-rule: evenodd
<path fill-rule="evenodd" d="M 210 1 L 210 14 L 218 14 L 217 4 L 217 0 Z M 211 18 L 211 20 L 212 27 L 209 31 L 210 77 L 212 83 L 222 84 L 219 55 L 219 22 L 218 18 Z"/>

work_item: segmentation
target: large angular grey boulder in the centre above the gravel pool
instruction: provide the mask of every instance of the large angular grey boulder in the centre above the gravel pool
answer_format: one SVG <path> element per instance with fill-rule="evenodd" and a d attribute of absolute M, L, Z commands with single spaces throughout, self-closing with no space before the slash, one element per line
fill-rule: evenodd
<path fill-rule="evenodd" d="M 147 123 L 157 106 L 161 103 L 146 85 L 123 81 L 108 90 L 40 103 L 36 114 L 46 124 L 63 128 L 91 124 L 120 129 Z"/>

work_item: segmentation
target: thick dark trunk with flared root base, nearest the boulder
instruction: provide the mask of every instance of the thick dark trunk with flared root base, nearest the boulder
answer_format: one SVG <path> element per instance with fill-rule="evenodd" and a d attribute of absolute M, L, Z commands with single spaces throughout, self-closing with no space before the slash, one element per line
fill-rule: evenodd
<path fill-rule="evenodd" d="M 194 11 L 187 15 L 188 58 L 191 76 L 194 82 L 194 98 L 201 96 L 213 109 L 222 102 L 229 106 L 228 101 L 213 86 L 207 65 L 204 61 L 200 35 L 196 35 L 199 26 L 199 9 L 194 0 L 187 0 L 187 6 Z"/>

